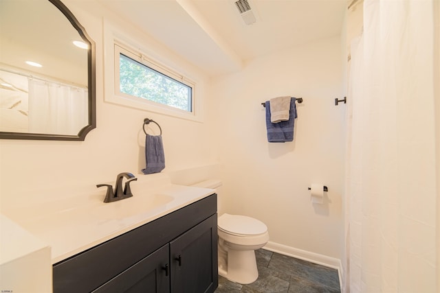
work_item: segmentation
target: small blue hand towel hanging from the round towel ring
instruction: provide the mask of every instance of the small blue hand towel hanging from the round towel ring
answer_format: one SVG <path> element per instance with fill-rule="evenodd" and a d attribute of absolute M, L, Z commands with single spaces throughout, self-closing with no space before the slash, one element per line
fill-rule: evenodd
<path fill-rule="evenodd" d="M 145 138 L 146 167 L 144 174 L 159 173 L 165 168 L 164 144 L 161 135 L 148 135 Z"/>

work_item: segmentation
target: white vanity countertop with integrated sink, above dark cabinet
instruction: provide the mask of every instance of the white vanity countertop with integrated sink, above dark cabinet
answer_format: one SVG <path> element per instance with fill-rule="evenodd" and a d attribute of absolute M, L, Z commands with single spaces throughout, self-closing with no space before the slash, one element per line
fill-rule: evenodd
<path fill-rule="evenodd" d="M 137 181 L 131 183 L 131 190 L 131 198 L 104 203 L 105 188 L 102 188 L 99 196 L 86 197 L 83 202 L 58 203 L 61 208 L 50 209 L 50 212 L 46 202 L 45 211 L 38 212 L 35 211 L 38 208 L 34 208 L 25 212 L 27 217 L 12 220 L 51 246 L 53 264 L 215 192 L 165 182 Z"/>

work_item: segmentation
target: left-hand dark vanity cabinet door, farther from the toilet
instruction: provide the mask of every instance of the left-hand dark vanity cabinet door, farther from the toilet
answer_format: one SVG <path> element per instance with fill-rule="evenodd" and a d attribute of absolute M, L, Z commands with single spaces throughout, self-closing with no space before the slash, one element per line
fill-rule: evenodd
<path fill-rule="evenodd" d="M 157 249 L 93 292 L 170 292 L 169 245 Z"/>

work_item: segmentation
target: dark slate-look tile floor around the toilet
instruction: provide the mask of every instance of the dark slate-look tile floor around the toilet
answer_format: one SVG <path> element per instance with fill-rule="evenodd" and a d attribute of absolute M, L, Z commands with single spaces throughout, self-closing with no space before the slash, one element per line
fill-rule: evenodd
<path fill-rule="evenodd" d="M 259 279 L 248 285 L 219 276 L 215 293 L 340 293 L 338 270 L 269 250 L 255 252 Z"/>

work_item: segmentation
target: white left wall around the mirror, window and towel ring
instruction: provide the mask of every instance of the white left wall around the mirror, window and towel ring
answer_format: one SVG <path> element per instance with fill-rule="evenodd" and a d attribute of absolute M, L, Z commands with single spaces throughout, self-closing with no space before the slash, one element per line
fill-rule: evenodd
<path fill-rule="evenodd" d="M 208 102 L 204 104 L 203 123 L 104 102 L 104 74 L 108 74 L 104 69 L 108 69 L 103 66 L 102 17 L 200 80 L 200 89 L 203 89 L 197 93 L 208 101 L 203 73 L 135 27 L 130 27 L 126 21 L 118 21 L 115 16 L 106 14 L 98 4 L 74 0 L 64 0 L 63 3 L 96 42 L 97 128 L 87 134 L 85 141 L 1 140 L 1 211 L 8 213 L 11 204 L 71 197 L 79 191 L 95 193 L 96 184 L 113 181 L 120 172 L 144 176 L 140 169 L 145 167 L 142 147 L 145 117 L 162 126 L 164 172 L 212 163 L 215 150 L 211 143 Z M 151 131 L 157 131 L 153 124 Z M 102 189 L 103 196 L 104 192 Z"/>

